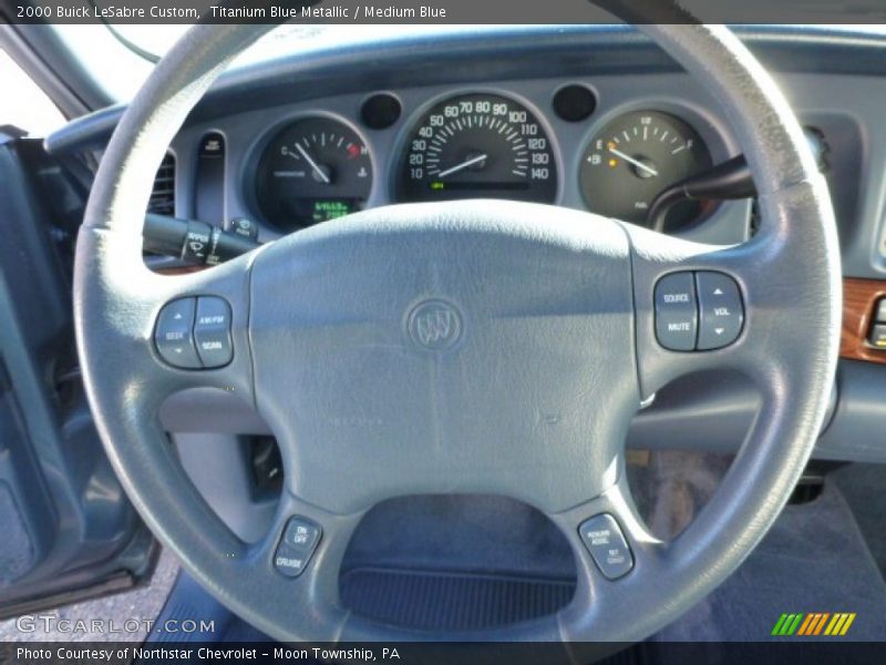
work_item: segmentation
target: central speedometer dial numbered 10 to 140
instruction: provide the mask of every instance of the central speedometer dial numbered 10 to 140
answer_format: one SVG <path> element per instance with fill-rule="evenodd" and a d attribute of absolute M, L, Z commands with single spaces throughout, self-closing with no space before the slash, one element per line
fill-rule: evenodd
<path fill-rule="evenodd" d="M 542 123 L 522 104 L 465 94 L 435 104 L 409 137 L 396 198 L 553 203 L 557 164 Z"/>

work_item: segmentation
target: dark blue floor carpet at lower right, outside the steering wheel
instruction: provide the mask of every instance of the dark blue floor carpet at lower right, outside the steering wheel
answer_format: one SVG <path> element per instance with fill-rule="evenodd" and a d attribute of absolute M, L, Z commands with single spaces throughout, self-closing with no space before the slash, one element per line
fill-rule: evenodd
<path fill-rule="evenodd" d="M 782 613 L 797 612 L 854 612 L 842 640 L 886 638 L 886 583 L 835 482 L 786 507 L 741 567 L 656 640 L 767 641 Z"/>

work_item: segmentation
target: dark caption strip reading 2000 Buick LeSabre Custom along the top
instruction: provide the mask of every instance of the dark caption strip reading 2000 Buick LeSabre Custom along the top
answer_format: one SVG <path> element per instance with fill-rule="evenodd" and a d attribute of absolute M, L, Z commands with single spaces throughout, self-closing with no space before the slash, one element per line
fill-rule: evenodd
<path fill-rule="evenodd" d="M 886 23 L 883 0 L 0 0 L 9 23 L 746 24 Z"/>

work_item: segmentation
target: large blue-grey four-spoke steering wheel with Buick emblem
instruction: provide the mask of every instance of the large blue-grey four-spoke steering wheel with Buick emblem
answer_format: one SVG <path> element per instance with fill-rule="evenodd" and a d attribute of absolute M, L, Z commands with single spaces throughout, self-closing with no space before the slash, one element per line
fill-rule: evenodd
<path fill-rule="evenodd" d="M 641 28 L 725 106 L 760 193 L 760 229 L 741 245 L 467 201 L 370 209 L 209 270 L 154 274 L 141 239 L 152 176 L 213 80 L 267 29 L 197 25 L 169 51 L 104 153 L 80 234 L 83 376 L 138 512 L 212 594 L 280 641 L 453 637 L 377 623 L 340 602 L 339 565 L 361 516 L 409 494 L 511 497 L 543 511 L 571 544 L 568 605 L 457 637 L 636 642 L 673 621 L 775 520 L 834 381 L 833 212 L 776 85 L 723 27 Z M 668 291 L 669 276 L 684 290 Z M 707 296 L 692 289 L 705 276 L 722 279 L 743 308 L 734 341 L 664 348 L 674 346 L 661 328 L 667 306 L 686 297 L 702 306 Z M 186 317 L 216 313 L 206 316 L 223 325 L 220 347 L 206 350 L 225 354 L 229 342 L 227 365 L 179 369 L 164 359 L 155 330 L 175 303 Z M 663 542 L 630 497 L 626 432 L 659 388 L 712 368 L 748 375 L 762 406 L 717 494 Z M 197 386 L 241 396 L 279 442 L 286 487 L 257 543 L 237 539 L 199 497 L 159 424 L 163 400 Z"/>

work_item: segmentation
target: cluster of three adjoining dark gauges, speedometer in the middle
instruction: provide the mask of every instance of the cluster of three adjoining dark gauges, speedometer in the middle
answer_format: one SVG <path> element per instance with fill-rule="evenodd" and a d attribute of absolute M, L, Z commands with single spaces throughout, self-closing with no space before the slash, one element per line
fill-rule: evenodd
<path fill-rule="evenodd" d="M 403 116 L 400 99 L 369 95 L 353 119 L 298 115 L 257 144 L 251 183 L 256 212 L 280 233 L 370 205 L 373 178 L 381 203 L 506 198 L 563 204 L 565 187 L 586 209 L 647 225 L 656 196 L 711 168 L 701 134 L 673 109 L 621 108 L 595 114 L 584 84 L 560 86 L 549 109 L 502 91 L 465 90 L 427 100 Z M 585 127 L 578 158 L 564 163 L 555 124 Z M 385 163 L 367 135 L 395 127 Z M 390 132 L 387 134 L 390 141 Z M 575 204 L 574 204 L 575 205 Z M 668 228 L 692 225 L 712 206 L 674 206 Z"/>

